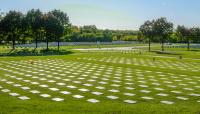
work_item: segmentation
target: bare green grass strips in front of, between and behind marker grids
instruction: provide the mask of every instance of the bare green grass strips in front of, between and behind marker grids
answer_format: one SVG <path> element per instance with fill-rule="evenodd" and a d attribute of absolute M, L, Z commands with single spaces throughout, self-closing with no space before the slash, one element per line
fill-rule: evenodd
<path fill-rule="evenodd" d="M 183 60 L 186 62 L 200 62 L 199 60 L 193 60 L 192 58 L 197 58 L 199 52 L 184 52 L 180 51 L 179 53 L 185 55 L 188 60 Z M 198 73 L 193 73 L 190 71 L 179 71 L 179 70 L 168 70 L 168 69 L 158 69 L 151 67 L 140 67 L 137 65 L 126 65 L 126 64 L 117 64 L 117 63 L 106 63 L 106 62 L 98 62 L 98 61 L 87 61 L 87 60 L 77 60 L 77 58 L 81 57 L 94 57 L 94 58 L 102 58 L 102 57 L 110 57 L 110 56 L 118 56 L 118 57 L 126 57 L 126 58 L 142 58 L 142 59 L 152 59 L 152 55 L 157 56 L 155 53 L 146 53 L 142 55 L 138 54 L 102 54 L 102 53 L 75 53 L 67 56 L 45 56 L 45 57 L 1 57 L 0 60 L 3 61 L 20 61 L 20 60 L 38 60 L 38 59 L 64 59 L 67 61 L 78 61 L 83 63 L 96 63 L 100 65 L 112 65 L 114 67 L 122 66 L 128 68 L 139 68 L 141 70 L 152 70 L 152 71 L 163 71 L 170 72 L 175 74 L 188 74 L 188 75 L 197 75 Z M 159 55 L 159 56 L 175 56 L 175 55 Z M 177 57 L 177 56 L 175 56 Z M 167 58 L 167 60 L 170 58 Z M 165 61 L 166 58 L 159 58 L 159 60 Z M 177 58 L 171 58 L 171 61 L 177 61 Z M 4 66 L 3 66 L 4 67 Z M 2 74 L 3 72 L 0 71 Z M 152 74 L 154 75 L 154 74 Z M 1 75 L 0 75 L 1 76 Z M 13 80 L 14 81 L 14 80 Z M 0 83 L 2 84 L 2 83 Z M 6 87 L 9 85 L 6 85 Z M 19 89 L 15 89 L 15 91 L 20 91 Z M 76 91 L 75 91 L 76 92 Z M 31 95 L 28 92 L 24 92 L 24 94 L 33 96 L 34 100 L 29 101 L 20 101 L 15 97 L 10 97 L 6 93 L 0 93 L 0 113 L 2 114 L 198 114 L 200 113 L 199 103 L 194 102 L 178 102 L 175 105 L 163 105 L 158 102 L 140 102 L 138 104 L 125 104 L 120 101 L 111 101 L 107 100 L 98 104 L 87 103 L 85 100 L 74 100 L 71 97 L 67 97 L 66 102 L 63 103 L 55 103 L 49 102 L 49 100 L 45 100 L 36 95 Z M 55 94 L 56 95 L 56 94 Z M 72 100 L 71 100 L 72 99 Z M 137 98 L 136 98 L 137 99 Z M 100 98 L 101 100 L 101 98 Z"/>

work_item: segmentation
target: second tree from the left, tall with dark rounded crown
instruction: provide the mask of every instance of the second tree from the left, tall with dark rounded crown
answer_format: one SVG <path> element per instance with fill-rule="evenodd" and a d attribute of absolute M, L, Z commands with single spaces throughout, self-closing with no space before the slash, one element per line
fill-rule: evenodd
<path fill-rule="evenodd" d="M 43 14 L 39 9 L 32 9 L 27 12 L 24 24 L 26 23 L 26 29 L 29 33 L 32 33 L 35 39 L 35 48 L 38 47 L 38 37 L 41 37 L 41 30 L 44 26 L 43 24 Z"/>

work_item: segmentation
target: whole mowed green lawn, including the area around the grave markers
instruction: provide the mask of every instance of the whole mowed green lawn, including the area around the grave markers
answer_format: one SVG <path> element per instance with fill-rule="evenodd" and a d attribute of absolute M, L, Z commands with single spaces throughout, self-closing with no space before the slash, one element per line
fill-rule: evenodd
<path fill-rule="evenodd" d="M 174 52 L 173 49 L 171 51 Z M 141 52 L 88 51 L 62 56 L 1 57 L 0 112 L 200 113 L 200 52 L 186 52 L 184 49 L 179 49 L 175 55 Z M 183 56 L 181 60 L 180 55 Z M 56 90 L 53 91 L 52 88 Z M 3 92 L 5 89 L 10 91 Z M 40 93 L 33 94 L 32 90 Z M 62 91 L 69 94 L 62 94 Z M 101 94 L 96 95 L 94 92 Z M 18 93 L 19 96 L 11 96 L 9 93 Z M 44 98 L 41 94 L 48 94 L 51 97 Z M 74 95 L 84 97 L 77 99 Z M 20 96 L 27 96 L 30 99 L 21 100 L 18 98 Z M 117 99 L 109 99 L 107 96 L 115 96 Z M 52 98 L 62 98 L 64 101 L 56 102 Z M 99 102 L 91 103 L 88 102 L 89 99 Z M 125 100 L 134 103 L 126 103 Z M 169 101 L 172 104 L 165 104 L 162 101 Z"/>

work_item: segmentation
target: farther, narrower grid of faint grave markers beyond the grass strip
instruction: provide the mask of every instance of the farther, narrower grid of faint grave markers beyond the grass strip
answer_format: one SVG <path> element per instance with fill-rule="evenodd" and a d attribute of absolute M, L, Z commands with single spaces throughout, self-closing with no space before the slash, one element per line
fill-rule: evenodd
<path fill-rule="evenodd" d="M 193 71 L 199 72 L 200 65 L 199 63 L 192 62 L 183 62 L 183 61 L 172 61 L 172 60 L 155 60 L 152 59 L 143 59 L 143 58 L 127 58 L 127 57 L 82 57 L 78 58 L 79 60 L 89 60 L 89 61 L 98 61 L 98 62 L 107 62 L 107 63 L 117 63 L 117 64 L 129 64 L 129 65 L 138 65 L 138 66 L 147 66 L 154 68 L 167 68 L 167 69 L 178 69 L 184 71 Z"/>

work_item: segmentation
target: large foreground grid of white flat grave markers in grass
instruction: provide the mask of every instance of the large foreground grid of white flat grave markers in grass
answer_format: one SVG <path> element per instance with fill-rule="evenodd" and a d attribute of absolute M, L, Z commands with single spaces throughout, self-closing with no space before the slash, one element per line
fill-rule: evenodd
<path fill-rule="evenodd" d="M 61 59 L 38 60 L 34 64 L 24 60 L 0 61 L 0 65 L 4 72 L 0 78 L 0 94 L 19 100 L 35 99 L 29 96 L 34 94 L 52 102 L 67 102 L 67 97 L 89 103 L 200 102 L 199 76 Z"/>

